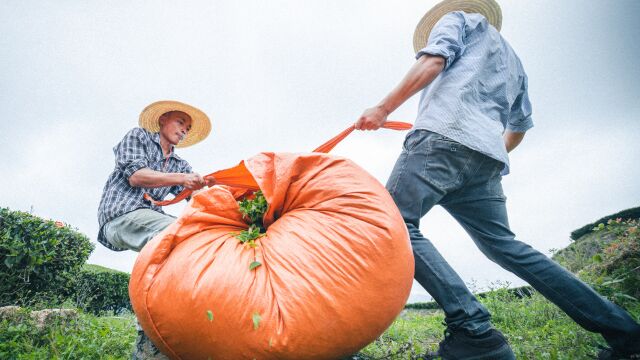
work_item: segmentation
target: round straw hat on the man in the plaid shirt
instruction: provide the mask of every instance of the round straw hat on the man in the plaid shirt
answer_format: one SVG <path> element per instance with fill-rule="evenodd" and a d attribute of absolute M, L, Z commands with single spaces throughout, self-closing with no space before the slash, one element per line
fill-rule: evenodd
<path fill-rule="evenodd" d="M 209 117 L 202 112 L 202 110 L 172 100 L 156 101 L 144 108 L 140 113 L 138 124 L 140 127 L 151 132 L 159 132 L 160 123 L 158 119 L 160 119 L 162 114 L 169 111 L 182 111 L 191 117 L 191 130 L 189 130 L 187 136 L 182 139 L 176 147 L 182 148 L 199 143 L 211 132 L 211 121 L 209 121 Z"/>

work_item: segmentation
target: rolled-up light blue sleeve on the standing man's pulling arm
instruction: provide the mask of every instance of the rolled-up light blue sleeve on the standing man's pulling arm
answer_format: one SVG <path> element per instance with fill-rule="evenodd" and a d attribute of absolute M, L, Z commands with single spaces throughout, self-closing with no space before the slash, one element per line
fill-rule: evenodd
<path fill-rule="evenodd" d="M 445 59 L 443 71 L 446 71 L 464 52 L 464 15 L 454 11 L 443 16 L 431 30 L 427 46 L 416 54 L 438 55 Z"/>

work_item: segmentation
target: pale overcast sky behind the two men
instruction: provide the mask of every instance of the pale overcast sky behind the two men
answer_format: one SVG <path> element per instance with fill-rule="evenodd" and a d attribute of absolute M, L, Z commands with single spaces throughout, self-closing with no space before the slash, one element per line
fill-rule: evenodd
<path fill-rule="evenodd" d="M 112 147 L 156 100 L 211 117 L 211 135 L 178 151 L 202 174 L 261 151 L 310 151 L 404 76 L 415 25 L 435 3 L 3 0 L 0 206 L 96 242 Z M 510 223 L 548 254 L 572 230 L 640 203 L 640 1 L 500 4 L 535 122 L 503 180 Z M 416 109 L 417 96 L 390 119 L 413 122 Z M 402 139 L 355 133 L 333 153 L 384 184 Z M 465 281 L 522 283 L 441 208 L 421 229 Z M 135 257 L 97 244 L 89 262 L 130 271 Z M 426 299 L 415 286 L 411 300 Z"/>

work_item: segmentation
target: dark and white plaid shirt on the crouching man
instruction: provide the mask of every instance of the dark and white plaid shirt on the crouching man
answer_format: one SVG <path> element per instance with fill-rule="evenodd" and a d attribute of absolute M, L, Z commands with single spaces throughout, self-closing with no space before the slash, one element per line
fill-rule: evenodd
<path fill-rule="evenodd" d="M 122 251 L 125 249 L 116 248 L 106 240 L 102 231 L 104 224 L 137 209 L 151 209 L 164 214 L 159 206 L 152 205 L 143 198 L 144 193 L 162 200 L 169 193 L 176 195 L 183 189 L 178 185 L 160 188 L 133 187 L 129 185 L 129 177 L 143 168 L 164 173 L 190 173 L 192 170 L 189 163 L 178 157 L 175 151 L 171 151 L 171 155 L 165 159 L 160 146 L 160 134 L 142 128 L 129 131 L 113 148 L 113 152 L 116 166 L 104 186 L 98 207 L 98 241 L 111 250 Z"/>

